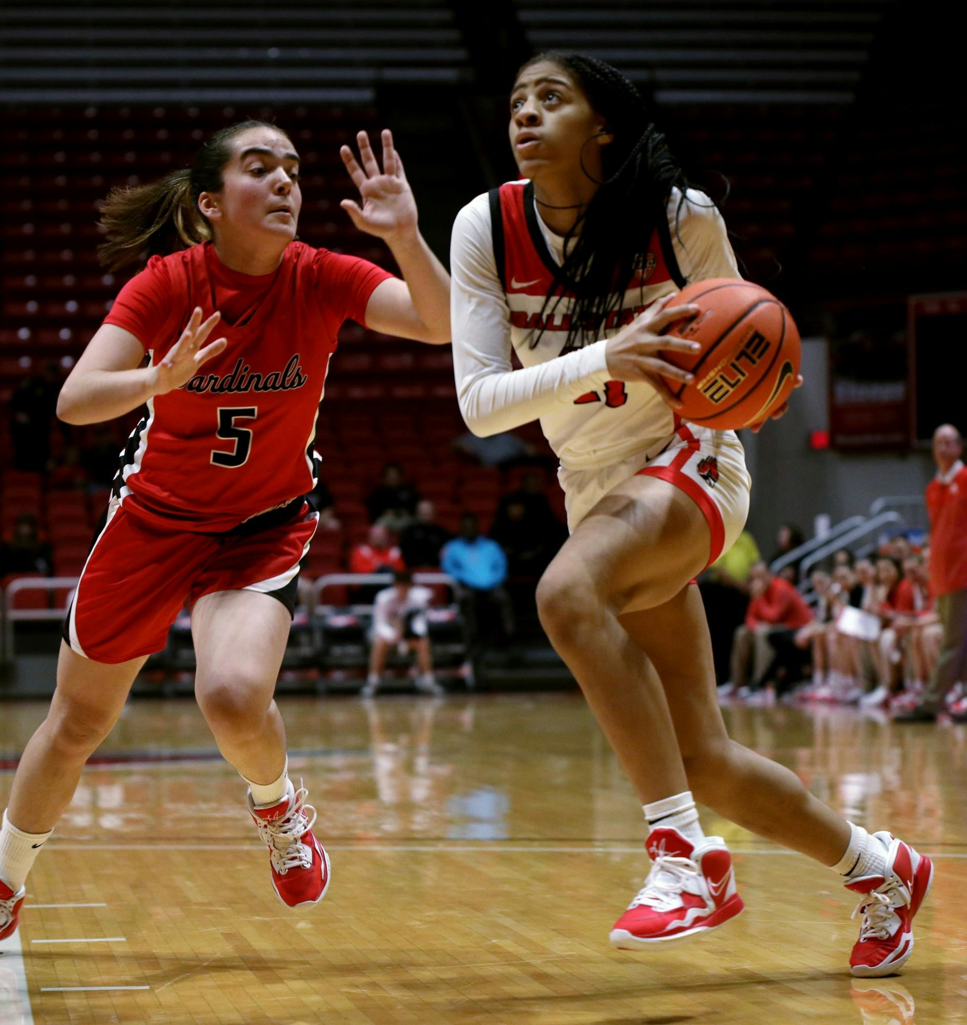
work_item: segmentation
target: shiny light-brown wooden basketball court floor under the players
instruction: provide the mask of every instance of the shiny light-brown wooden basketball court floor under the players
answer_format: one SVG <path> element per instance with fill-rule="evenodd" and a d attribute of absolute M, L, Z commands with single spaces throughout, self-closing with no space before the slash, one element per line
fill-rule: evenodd
<path fill-rule="evenodd" d="M 704 815 L 747 910 L 611 949 L 645 870 L 634 795 L 577 695 L 287 699 L 333 883 L 286 909 L 245 791 L 188 701 L 137 701 L 86 771 L 0 944 L 0 1023 L 967 1022 L 967 727 L 729 708 L 732 735 L 936 863 L 902 975 L 851 979 L 852 896 Z M 43 717 L 0 705 L 0 807 Z"/>

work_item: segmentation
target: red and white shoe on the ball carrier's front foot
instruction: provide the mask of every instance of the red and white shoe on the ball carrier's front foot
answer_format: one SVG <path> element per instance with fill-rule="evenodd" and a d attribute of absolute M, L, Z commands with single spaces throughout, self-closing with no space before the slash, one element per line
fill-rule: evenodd
<path fill-rule="evenodd" d="M 651 870 L 611 941 L 621 950 L 677 940 L 716 929 L 745 906 L 735 892 L 732 859 L 723 840 L 707 836 L 696 847 L 677 829 L 658 826 L 645 847 Z"/>

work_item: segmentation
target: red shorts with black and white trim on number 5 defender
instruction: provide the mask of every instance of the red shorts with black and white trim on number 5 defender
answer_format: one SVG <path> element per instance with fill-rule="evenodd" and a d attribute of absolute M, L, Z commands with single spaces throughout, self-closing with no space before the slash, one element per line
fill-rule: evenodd
<path fill-rule="evenodd" d="M 291 613 L 299 563 L 319 512 L 300 498 L 224 534 L 162 531 L 117 498 L 81 572 L 64 624 L 79 655 L 111 664 L 161 651 L 185 604 L 218 590 L 255 590 Z"/>

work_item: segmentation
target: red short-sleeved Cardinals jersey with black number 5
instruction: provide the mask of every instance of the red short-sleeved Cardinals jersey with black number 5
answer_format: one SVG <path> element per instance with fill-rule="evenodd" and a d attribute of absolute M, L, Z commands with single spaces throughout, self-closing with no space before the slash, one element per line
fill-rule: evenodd
<path fill-rule="evenodd" d="M 365 323 L 388 277 L 301 242 L 261 277 L 230 271 L 210 243 L 153 257 L 104 323 L 134 334 L 157 364 L 196 306 L 204 318 L 220 310 L 209 341 L 228 344 L 186 385 L 148 403 L 115 479 L 124 507 L 160 526 L 219 532 L 310 491 L 337 332 L 347 319 Z"/>

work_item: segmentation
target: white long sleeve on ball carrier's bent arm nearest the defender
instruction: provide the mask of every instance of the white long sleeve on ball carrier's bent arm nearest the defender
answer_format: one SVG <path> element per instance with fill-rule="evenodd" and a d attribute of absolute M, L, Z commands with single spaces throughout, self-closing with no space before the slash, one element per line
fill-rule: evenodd
<path fill-rule="evenodd" d="M 494 262 L 487 195 L 465 206 L 450 247 L 450 319 L 460 412 L 484 438 L 573 403 L 608 379 L 604 341 L 533 367 L 510 362 L 510 312 Z"/>

